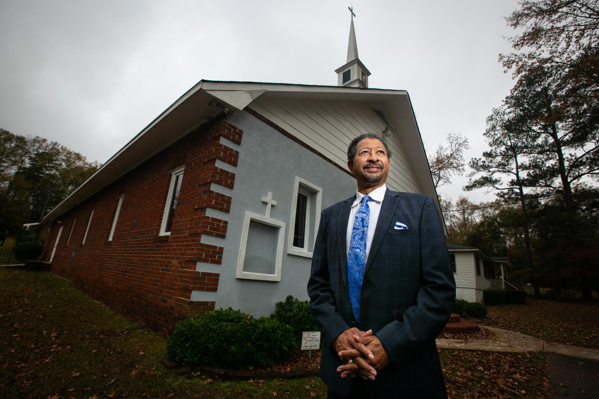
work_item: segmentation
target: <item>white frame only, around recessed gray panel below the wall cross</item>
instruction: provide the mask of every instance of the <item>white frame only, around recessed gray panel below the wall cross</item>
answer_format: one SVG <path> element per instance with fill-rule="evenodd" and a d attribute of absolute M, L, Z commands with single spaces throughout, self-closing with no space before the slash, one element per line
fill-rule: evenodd
<path fill-rule="evenodd" d="M 275 256 L 274 274 L 255 273 L 244 271 L 243 263 L 246 260 L 247 236 L 250 230 L 250 221 L 262 223 L 279 229 L 277 240 L 277 254 Z M 243 220 L 243 231 L 241 232 L 241 245 L 239 248 L 239 257 L 237 259 L 237 278 L 250 280 L 281 281 L 281 269 L 283 265 L 283 246 L 285 245 L 285 222 L 262 216 L 261 214 L 246 211 L 246 217 Z"/>

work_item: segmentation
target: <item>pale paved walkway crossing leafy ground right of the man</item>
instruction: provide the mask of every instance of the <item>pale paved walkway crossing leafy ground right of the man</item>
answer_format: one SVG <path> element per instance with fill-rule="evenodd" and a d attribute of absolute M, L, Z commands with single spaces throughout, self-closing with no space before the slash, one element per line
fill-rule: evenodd
<path fill-rule="evenodd" d="M 491 340 L 468 341 L 438 338 L 437 347 L 440 349 L 490 350 L 492 352 L 537 352 L 544 350 L 545 352 L 599 361 L 599 349 L 547 342 L 515 331 L 501 330 L 501 328 L 483 325 L 480 327 L 493 331 L 495 337 Z"/>

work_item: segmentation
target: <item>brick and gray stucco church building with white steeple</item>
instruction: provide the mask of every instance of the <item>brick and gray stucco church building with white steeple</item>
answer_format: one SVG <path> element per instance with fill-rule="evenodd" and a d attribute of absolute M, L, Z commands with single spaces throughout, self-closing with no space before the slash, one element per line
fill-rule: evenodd
<path fill-rule="evenodd" d="M 41 220 L 43 260 L 163 335 L 307 299 L 320 211 L 356 190 L 353 138 L 383 135 L 388 188 L 437 201 L 410 97 L 368 87 L 353 20 L 335 72 L 337 86 L 199 81 Z"/>

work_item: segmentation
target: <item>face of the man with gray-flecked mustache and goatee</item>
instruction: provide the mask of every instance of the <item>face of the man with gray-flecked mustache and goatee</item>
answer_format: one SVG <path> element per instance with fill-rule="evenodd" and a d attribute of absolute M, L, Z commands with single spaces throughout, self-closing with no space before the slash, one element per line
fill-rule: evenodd
<path fill-rule="evenodd" d="M 389 173 L 389 158 L 385 146 L 376 138 L 364 138 L 356 146 L 353 160 L 347 161 L 347 167 L 361 186 L 382 186 Z"/>

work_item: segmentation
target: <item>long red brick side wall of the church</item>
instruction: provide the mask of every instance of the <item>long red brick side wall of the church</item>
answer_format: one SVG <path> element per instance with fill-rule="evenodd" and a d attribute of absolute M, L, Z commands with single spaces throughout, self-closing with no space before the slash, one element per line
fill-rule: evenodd
<path fill-rule="evenodd" d="M 217 120 L 153 156 L 43 230 L 43 259 L 50 258 L 59 226 L 64 226 L 52 271 L 110 309 L 163 335 L 180 319 L 213 310 L 214 302 L 190 301 L 190 295 L 193 290 L 218 288 L 219 274 L 196 271 L 196 262 L 220 264 L 222 260 L 223 248 L 202 244 L 200 238 L 226 234 L 227 221 L 207 216 L 206 208 L 228 212 L 231 197 L 211 191 L 210 183 L 233 187 L 235 174 L 216 167 L 216 159 L 237 166 L 239 154 L 220 144 L 219 137 L 240 144 L 242 134 L 225 120 Z M 171 235 L 159 236 L 171 173 L 183 164 L 180 205 Z M 108 241 L 122 194 L 113 240 Z M 82 245 L 92 208 L 92 223 Z"/>

